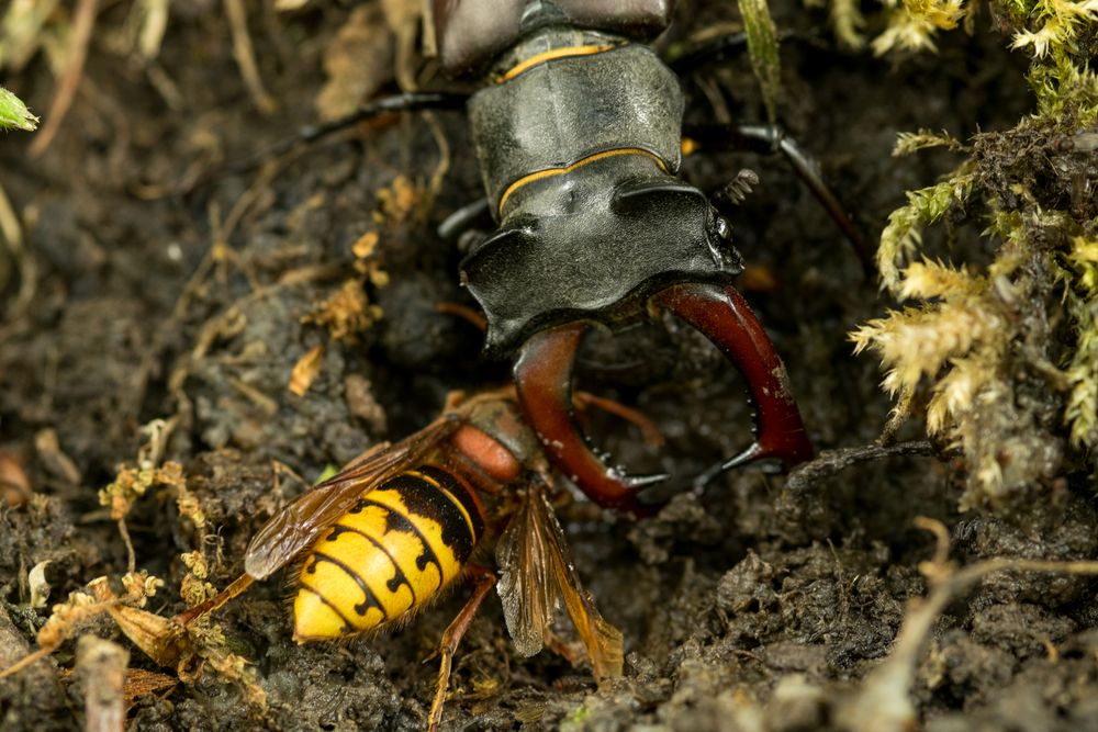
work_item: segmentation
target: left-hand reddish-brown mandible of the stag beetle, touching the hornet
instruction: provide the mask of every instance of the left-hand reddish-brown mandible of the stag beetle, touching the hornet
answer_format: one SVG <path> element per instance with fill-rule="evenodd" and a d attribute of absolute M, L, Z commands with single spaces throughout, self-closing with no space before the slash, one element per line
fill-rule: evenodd
<path fill-rule="evenodd" d="M 666 475 L 629 476 L 592 451 L 572 410 L 572 370 L 587 326 L 568 323 L 535 334 L 515 363 L 515 386 L 526 418 L 549 459 L 600 506 L 650 514 L 637 489 Z"/>

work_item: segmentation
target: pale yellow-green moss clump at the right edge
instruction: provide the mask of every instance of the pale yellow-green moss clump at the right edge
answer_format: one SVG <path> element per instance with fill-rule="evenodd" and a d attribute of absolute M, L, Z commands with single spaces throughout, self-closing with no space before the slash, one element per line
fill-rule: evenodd
<path fill-rule="evenodd" d="M 961 19 L 946 5 L 963 11 L 908 2 L 903 12 L 930 34 Z M 1088 68 L 1098 0 L 993 11 L 1031 54 L 1035 112 L 971 147 L 928 132 L 900 137 L 897 155 L 945 146 L 965 159 L 909 192 L 882 234 L 882 286 L 910 305 L 852 334 L 887 371 L 893 427 L 921 410 L 929 384 L 927 431 L 960 448 L 968 469 L 962 507 L 1008 506 L 1023 488 L 1093 469 L 1098 447 L 1098 77 Z M 922 232 L 942 221 L 954 233 L 978 226 L 990 261 L 927 259 Z"/>

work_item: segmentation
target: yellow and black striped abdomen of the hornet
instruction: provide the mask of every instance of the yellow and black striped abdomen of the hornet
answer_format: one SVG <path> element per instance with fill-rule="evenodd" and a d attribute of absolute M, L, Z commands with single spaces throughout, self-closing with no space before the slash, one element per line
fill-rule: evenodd
<path fill-rule="evenodd" d="M 424 465 L 385 481 L 313 545 L 293 604 L 295 640 L 400 620 L 458 577 L 483 532 L 480 500 L 458 476 Z"/>

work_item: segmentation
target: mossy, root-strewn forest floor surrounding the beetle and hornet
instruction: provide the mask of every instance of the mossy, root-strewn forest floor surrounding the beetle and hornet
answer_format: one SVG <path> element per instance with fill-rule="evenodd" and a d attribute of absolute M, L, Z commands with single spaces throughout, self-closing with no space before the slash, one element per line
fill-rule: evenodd
<path fill-rule="evenodd" d="M 508 379 L 457 275 L 483 232 L 437 233 L 482 195 L 461 112 L 278 146 L 320 129 L 327 82 L 345 91 L 325 114 L 372 101 L 341 94 L 470 91 L 418 55 L 421 7 L 2 11 L 4 85 L 35 111 L 69 97 L 48 146 L 0 138 L 5 731 L 114 724 L 120 703 L 133 730 L 423 728 L 422 662 L 468 587 L 340 646 L 293 642 L 278 581 L 204 611 L 325 471 Z M 676 478 L 639 522 L 554 506 L 625 678 L 596 688 L 552 641 L 522 657 L 485 603 L 442 729 L 1093 727 L 1094 1 L 746 9 L 680 0 L 654 45 L 688 55 L 766 19 L 782 40 L 685 75 L 685 123 L 773 117 L 882 239 L 877 290 L 780 157 L 683 159 L 710 192 L 758 173 L 732 211 L 740 285 L 819 458 L 695 489 L 750 443 L 741 382 L 671 317 L 593 340 L 581 388 L 627 418 L 578 418 L 615 462 Z M 875 358 L 851 353 L 855 329 Z"/>

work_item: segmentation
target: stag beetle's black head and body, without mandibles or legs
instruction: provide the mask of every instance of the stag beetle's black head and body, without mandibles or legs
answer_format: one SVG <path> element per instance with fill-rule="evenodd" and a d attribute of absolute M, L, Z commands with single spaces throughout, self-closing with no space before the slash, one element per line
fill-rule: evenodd
<path fill-rule="evenodd" d="M 643 45 L 672 2 L 436 2 L 451 74 L 488 69 L 469 101 L 498 229 L 461 264 L 488 316 L 486 349 L 538 330 L 613 324 L 679 282 L 742 271 L 728 224 L 676 177 L 679 79 Z"/>

